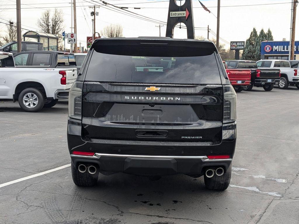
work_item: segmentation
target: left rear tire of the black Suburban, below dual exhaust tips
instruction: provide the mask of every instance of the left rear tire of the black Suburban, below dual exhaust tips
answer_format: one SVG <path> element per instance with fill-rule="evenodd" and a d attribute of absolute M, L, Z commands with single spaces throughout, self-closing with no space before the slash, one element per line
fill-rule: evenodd
<path fill-rule="evenodd" d="M 84 173 L 81 173 L 71 162 L 71 170 L 72 170 L 72 177 L 74 184 L 79 187 L 92 187 L 97 185 L 97 178 L 99 176 L 99 172 L 95 174 L 89 174 L 89 172 L 86 170 Z"/>

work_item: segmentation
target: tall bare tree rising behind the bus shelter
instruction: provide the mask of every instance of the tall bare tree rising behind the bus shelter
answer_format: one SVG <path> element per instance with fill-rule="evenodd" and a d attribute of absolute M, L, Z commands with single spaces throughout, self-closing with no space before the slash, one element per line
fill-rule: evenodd
<path fill-rule="evenodd" d="M 40 19 L 37 20 L 37 26 L 43 33 L 54 34 L 58 37 L 58 50 L 63 50 L 62 32 L 64 30 L 64 19 L 62 10 L 55 8 L 53 15 L 47 10 L 42 13 Z"/>

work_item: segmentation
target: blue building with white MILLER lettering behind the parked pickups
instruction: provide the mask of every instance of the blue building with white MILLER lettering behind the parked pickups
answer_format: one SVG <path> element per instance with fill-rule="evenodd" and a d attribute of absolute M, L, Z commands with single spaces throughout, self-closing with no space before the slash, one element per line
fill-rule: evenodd
<path fill-rule="evenodd" d="M 289 41 L 263 41 L 261 59 L 289 60 Z M 299 41 L 295 41 L 294 59 L 299 59 Z"/>

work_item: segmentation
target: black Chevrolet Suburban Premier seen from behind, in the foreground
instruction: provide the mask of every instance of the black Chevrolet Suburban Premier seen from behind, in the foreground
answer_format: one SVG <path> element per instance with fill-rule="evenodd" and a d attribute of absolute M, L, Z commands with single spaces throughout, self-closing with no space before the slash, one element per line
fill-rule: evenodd
<path fill-rule="evenodd" d="M 236 93 L 208 41 L 93 42 L 69 93 L 73 181 L 98 174 L 204 176 L 225 190 L 236 145 Z"/>

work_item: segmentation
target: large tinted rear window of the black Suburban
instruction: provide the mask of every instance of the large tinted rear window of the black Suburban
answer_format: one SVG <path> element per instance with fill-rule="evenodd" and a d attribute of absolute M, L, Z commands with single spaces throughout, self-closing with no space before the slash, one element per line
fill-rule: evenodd
<path fill-rule="evenodd" d="M 123 49 L 120 49 L 123 48 Z M 111 50 L 115 51 L 115 47 Z M 221 84 L 213 49 L 118 47 L 122 55 L 93 51 L 85 80 L 103 82 Z M 150 54 L 150 55 L 149 55 Z"/>

